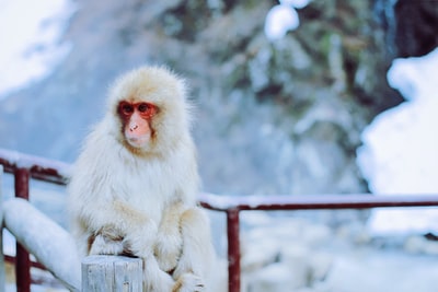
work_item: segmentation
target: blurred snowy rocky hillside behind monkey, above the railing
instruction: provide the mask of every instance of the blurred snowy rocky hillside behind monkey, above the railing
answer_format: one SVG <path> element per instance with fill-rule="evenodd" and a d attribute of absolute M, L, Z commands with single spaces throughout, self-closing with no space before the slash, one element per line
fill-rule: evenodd
<path fill-rule="evenodd" d="M 437 1 L 1 5 L 0 148 L 72 163 L 113 80 L 165 65 L 197 107 L 205 191 L 438 192 Z"/>

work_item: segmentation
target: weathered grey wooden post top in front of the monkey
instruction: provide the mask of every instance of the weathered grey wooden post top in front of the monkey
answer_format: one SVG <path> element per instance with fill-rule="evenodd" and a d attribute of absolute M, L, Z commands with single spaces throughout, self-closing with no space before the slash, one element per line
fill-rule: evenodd
<path fill-rule="evenodd" d="M 141 292 L 142 260 L 123 256 L 89 256 L 82 260 L 82 292 Z"/>

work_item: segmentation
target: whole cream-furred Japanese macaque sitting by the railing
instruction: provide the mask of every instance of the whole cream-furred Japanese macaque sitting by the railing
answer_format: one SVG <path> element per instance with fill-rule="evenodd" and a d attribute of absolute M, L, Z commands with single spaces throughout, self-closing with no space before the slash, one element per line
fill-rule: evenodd
<path fill-rule="evenodd" d="M 161 67 L 122 75 L 69 184 L 73 235 L 85 255 L 143 259 L 145 291 L 210 291 L 209 221 L 183 80 Z"/>

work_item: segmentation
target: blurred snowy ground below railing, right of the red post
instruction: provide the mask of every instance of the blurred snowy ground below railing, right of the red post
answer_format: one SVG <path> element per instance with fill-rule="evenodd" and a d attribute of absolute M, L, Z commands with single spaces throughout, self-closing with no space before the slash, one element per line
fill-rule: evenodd
<path fill-rule="evenodd" d="M 242 215 L 242 291 L 434 292 L 438 243 L 373 238 L 358 222 L 337 229 L 300 217 Z"/>

